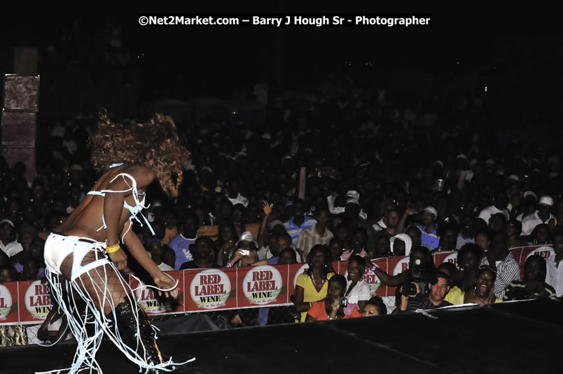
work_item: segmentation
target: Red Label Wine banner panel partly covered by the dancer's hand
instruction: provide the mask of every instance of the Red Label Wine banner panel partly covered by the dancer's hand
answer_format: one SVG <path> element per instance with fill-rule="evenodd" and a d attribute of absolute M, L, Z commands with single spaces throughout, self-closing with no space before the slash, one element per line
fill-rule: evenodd
<path fill-rule="evenodd" d="M 172 300 L 167 300 L 165 296 L 158 296 L 158 290 L 149 288 L 139 278 L 130 275 L 129 284 L 137 298 L 137 302 L 144 309 L 146 314 L 169 314 L 184 312 L 184 282 L 183 271 L 173 270 L 166 272 L 175 281 L 178 281 L 178 295 Z"/>

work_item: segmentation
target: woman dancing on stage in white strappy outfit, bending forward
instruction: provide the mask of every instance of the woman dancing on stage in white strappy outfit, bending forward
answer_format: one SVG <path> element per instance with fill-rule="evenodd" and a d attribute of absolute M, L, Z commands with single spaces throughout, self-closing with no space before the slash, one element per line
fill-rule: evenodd
<path fill-rule="evenodd" d="M 151 261 L 131 227 L 135 219 L 151 228 L 140 212 L 148 207 L 145 191 L 154 179 L 169 195 L 178 194 L 188 151 L 171 118 L 155 115 L 150 123 L 125 126 L 112 123 L 104 109 L 90 145 L 92 165 L 102 176 L 45 244 L 46 275 L 78 342 L 69 373 L 85 366 L 102 373 L 95 354 L 104 334 L 144 373 L 171 371 L 119 272 L 127 265 L 121 244 L 151 275 L 159 295 L 176 296 L 176 282 Z M 78 310 L 79 298 L 85 310 Z M 86 333 L 86 324 L 94 324 L 95 333 Z"/>

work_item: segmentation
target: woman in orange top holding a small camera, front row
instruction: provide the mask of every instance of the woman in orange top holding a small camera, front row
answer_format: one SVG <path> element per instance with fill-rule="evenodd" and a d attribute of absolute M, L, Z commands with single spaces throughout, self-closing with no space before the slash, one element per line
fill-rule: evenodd
<path fill-rule="evenodd" d="M 326 298 L 315 301 L 307 311 L 306 322 L 326 321 L 327 319 L 346 319 L 361 317 L 356 305 L 341 305 L 345 300 L 346 278 L 337 274 L 328 279 L 328 291 Z"/>

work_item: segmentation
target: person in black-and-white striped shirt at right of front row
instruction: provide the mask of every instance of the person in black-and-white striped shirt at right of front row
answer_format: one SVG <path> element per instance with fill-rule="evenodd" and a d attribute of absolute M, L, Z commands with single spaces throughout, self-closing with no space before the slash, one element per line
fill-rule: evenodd
<path fill-rule="evenodd" d="M 513 280 L 520 279 L 520 263 L 516 261 L 512 252 L 508 251 L 508 237 L 504 231 L 497 231 L 492 236 L 491 248 L 481 265 L 489 265 L 496 271 L 494 295 L 502 299 L 504 290 Z"/>

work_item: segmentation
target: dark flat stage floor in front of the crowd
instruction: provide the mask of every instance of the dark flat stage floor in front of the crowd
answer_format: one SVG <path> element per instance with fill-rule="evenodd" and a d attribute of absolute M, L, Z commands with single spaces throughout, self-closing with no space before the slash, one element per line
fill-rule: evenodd
<path fill-rule="evenodd" d="M 160 335 L 161 351 L 195 363 L 174 373 L 563 373 L 562 303 L 457 307 L 423 314 Z M 0 349 L 0 373 L 70 365 L 76 345 Z M 111 345 L 104 373 L 138 373 Z"/>

